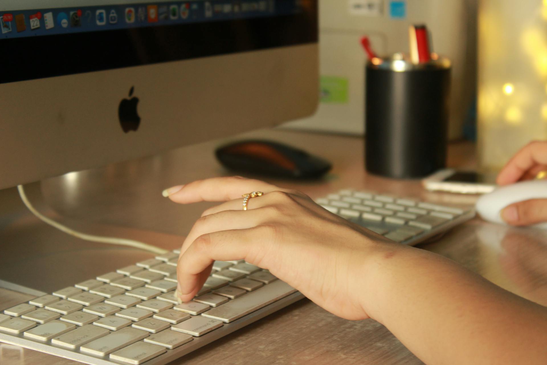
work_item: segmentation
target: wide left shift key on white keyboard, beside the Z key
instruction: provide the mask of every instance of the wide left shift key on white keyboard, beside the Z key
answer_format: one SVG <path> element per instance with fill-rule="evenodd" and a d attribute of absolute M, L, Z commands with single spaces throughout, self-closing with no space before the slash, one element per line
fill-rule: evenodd
<path fill-rule="evenodd" d="M 148 337 L 148 332 L 132 327 L 122 328 L 120 331 L 107 334 L 100 339 L 80 347 L 80 351 L 96 356 L 106 356 L 127 345 L 131 345 Z"/>

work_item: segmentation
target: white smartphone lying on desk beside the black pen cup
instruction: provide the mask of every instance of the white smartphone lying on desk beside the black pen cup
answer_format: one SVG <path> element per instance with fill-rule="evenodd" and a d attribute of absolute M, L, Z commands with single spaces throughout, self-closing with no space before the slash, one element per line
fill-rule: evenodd
<path fill-rule="evenodd" d="M 429 191 L 459 194 L 486 194 L 496 189 L 496 175 L 475 171 L 444 169 L 422 180 Z"/>

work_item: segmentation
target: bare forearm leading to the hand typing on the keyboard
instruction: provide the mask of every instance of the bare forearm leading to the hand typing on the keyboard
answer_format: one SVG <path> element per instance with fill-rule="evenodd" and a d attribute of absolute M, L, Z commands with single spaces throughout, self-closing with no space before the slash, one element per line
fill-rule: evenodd
<path fill-rule="evenodd" d="M 545 363 L 547 308 L 416 248 L 388 251 L 373 265 L 365 310 L 424 362 Z"/>

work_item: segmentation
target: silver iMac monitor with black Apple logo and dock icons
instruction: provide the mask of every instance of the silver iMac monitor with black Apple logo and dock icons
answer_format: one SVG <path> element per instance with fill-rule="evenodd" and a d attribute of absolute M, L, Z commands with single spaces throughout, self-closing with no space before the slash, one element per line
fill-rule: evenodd
<path fill-rule="evenodd" d="M 4 0 L 0 26 L 0 188 L 316 108 L 316 0 Z"/>

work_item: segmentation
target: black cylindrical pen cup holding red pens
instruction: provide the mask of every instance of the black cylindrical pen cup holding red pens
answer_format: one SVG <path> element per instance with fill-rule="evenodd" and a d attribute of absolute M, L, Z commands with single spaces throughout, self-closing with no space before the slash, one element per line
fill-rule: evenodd
<path fill-rule="evenodd" d="M 446 166 L 450 72 L 447 59 L 367 63 L 366 171 L 420 178 Z"/>

